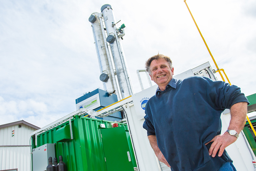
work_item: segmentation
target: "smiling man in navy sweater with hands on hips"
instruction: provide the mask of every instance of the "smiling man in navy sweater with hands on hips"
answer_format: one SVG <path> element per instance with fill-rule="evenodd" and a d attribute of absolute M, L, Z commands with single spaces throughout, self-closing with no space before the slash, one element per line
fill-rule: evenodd
<path fill-rule="evenodd" d="M 159 54 L 146 61 L 146 71 L 158 89 L 143 128 L 158 159 L 172 171 L 236 171 L 225 148 L 245 124 L 249 102 L 240 88 L 207 77 L 177 80 L 170 58 Z M 220 135 L 226 108 L 230 131 Z"/>

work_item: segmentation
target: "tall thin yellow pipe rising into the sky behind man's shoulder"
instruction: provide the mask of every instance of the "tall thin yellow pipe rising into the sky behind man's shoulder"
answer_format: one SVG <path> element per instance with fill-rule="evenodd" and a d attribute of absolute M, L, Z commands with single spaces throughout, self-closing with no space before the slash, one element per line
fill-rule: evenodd
<path fill-rule="evenodd" d="M 188 8 L 188 4 L 186 3 L 186 0 L 184 0 L 184 3 L 186 4 L 186 6 L 187 6 L 187 8 Z M 196 24 L 196 21 L 195 21 L 193 15 L 192 15 L 191 11 L 189 10 L 189 8 L 188 8 L 188 11 L 189 11 L 189 13 L 190 13 L 190 15 L 191 15 L 191 17 L 192 17 L 194 23 Z M 219 71 L 219 70 L 223 71 L 223 73 L 225 74 L 225 76 L 226 76 L 226 78 L 227 78 L 227 75 L 226 75 L 226 73 L 224 72 L 224 69 L 219 69 L 217 63 L 216 63 L 215 60 L 214 60 L 214 57 L 213 57 L 212 54 L 211 54 L 210 49 L 208 48 L 208 45 L 207 45 L 206 41 L 204 40 L 204 37 L 203 37 L 202 33 L 200 32 L 199 27 L 197 26 L 197 24 L 196 24 L 196 28 L 197 28 L 197 30 L 199 31 L 199 33 L 200 33 L 200 35 L 201 35 L 201 37 L 202 37 L 202 39 L 203 39 L 203 41 L 204 41 L 204 44 L 206 45 L 206 48 L 207 48 L 208 52 L 210 53 L 211 58 L 212 58 L 212 60 L 213 60 L 213 62 L 214 62 L 214 64 L 215 64 L 215 66 L 216 66 L 216 68 L 217 68 L 217 71 L 216 71 L 216 72 L 219 72 L 219 75 L 221 75 L 222 80 L 225 81 L 224 77 L 222 76 L 221 72 Z M 230 83 L 230 81 L 229 81 L 228 78 L 227 78 L 227 81 L 228 81 L 229 84 L 231 85 L 231 83 Z M 247 115 L 246 115 L 246 117 L 247 117 L 248 123 L 250 124 L 250 126 L 251 126 L 251 128 L 252 128 L 252 131 L 254 132 L 254 134 L 255 134 L 255 136 L 256 136 L 256 132 L 255 132 L 253 126 L 252 126 L 252 123 L 251 123 L 250 119 L 248 118 Z"/>

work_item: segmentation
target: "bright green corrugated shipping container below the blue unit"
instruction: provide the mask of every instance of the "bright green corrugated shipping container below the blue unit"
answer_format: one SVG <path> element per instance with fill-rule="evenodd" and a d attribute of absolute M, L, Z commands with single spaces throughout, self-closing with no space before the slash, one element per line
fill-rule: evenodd
<path fill-rule="evenodd" d="M 78 115 L 71 123 L 74 139 L 66 122 L 39 134 L 37 146 L 33 136 L 33 148 L 56 143 L 55 155 L 63 156 L 67 171 L 133 171 L 137 167 L 127 124 L 112 128 L 114 122 Z"/>

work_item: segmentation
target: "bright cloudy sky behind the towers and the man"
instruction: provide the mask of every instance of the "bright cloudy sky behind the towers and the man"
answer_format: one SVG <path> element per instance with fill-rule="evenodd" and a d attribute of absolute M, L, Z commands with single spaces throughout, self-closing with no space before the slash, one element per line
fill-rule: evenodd
<path fill-rule="evenodd" d="M 256 1 L 187 3 L 219 68 L 246 96 L 255 94 Z M 174 74 L 207 61 L 216 69 L 183 0 L 0 1 L 0 125 L 44 127 L 75 111 L 79 95 L 103 88 L 88 19 L 104 4 L 126 25 L 122 44 L 135 93 L 136 70 L 158 52 L 171 57 Z"/>

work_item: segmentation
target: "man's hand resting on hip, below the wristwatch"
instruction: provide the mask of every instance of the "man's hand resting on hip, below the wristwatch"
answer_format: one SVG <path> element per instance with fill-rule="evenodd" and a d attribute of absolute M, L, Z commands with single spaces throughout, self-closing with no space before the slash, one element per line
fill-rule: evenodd
<path fill-rule="evenodd" d="M 211 155 L 212 157 L 215 157 L 219 150 L 218 156 L 220 157 L 223 154 L 225 148 L 227 146 L 229 146 L 230 144 L 234 143 L 236 140 L 237 140 L 237 138 L 235 136 L 229 135 L 228 132 L 225 132 L 224 134 L 215 136 L 210 141 L 213 143 L 211 144 L 211 147 L 209 149 L 209 155 Z M 210 143 L 210 142 L 208 142 L 208 143 Z M 206 145 L 208 143 L 206 143 Z"/>

